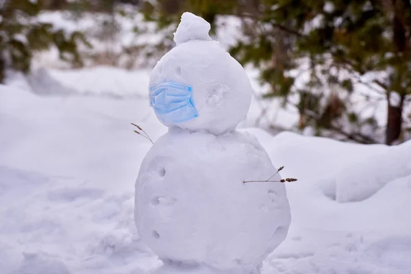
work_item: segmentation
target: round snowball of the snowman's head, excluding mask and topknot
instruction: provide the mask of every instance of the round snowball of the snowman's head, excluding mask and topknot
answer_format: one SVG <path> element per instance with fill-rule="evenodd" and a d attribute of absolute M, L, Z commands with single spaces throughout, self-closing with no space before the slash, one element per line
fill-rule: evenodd
<path fill-rule="evenodd" d="M 155 65 L 149 86 L 162 82 L 192 86 L 198 112 L 183 123 L 162 123 L 212 134 L 229 132 L 245 120 L 253 92 L 242 66 L 215 41 L 192 40 L 166 53 Z"/>

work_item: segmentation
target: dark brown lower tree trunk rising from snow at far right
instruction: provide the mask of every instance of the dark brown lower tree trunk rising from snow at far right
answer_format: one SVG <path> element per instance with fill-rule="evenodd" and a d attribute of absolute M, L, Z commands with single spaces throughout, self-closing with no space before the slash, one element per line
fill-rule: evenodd
<path fill-rule="evenodd" d="M 402 129 L 402 112 L 403 103 L 405 96 L 401 95 L 399 105 L 391 105 L 390 100 L 388 100 L 388 117 L 387 117 L 387 128 L 386 128 L 386 144 L 392 145 L 395 140 L 397 140 L 401 134 Z"/>

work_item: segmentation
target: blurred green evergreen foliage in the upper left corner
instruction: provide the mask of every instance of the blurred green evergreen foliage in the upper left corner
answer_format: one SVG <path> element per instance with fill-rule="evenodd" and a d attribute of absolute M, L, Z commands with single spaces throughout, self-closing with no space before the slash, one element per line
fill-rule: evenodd
<path fill-rule="evenodd" d="M 49 23 L 39 22 L 36 16 L 40 10 L 40 1 L 3 1 L 0 7 L 0 82 L 7 69 L 29 72 L 33 54 L 53 45 L 62 60 L 82 66 L 78 45 L 90 46 L 84 35 L 80 32 L 68 34 Z"/>

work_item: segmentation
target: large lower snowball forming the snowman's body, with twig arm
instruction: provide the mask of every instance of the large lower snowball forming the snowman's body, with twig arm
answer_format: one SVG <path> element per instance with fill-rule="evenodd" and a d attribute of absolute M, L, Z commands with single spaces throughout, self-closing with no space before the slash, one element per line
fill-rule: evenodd
<path fill-rule="evenodd" d="M 171 129 L 140 167 L 138 232 L 166 263 L 256 271 L 286 237 L 290 207 L 284 184 L 243 181 L 266 180 L 275 172 L 249 134 Z"/>

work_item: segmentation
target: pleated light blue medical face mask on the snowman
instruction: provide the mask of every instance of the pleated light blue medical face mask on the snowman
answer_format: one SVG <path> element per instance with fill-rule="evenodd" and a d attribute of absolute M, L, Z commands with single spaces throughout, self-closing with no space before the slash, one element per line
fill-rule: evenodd
<path fill-rule="evenodd" d="M 192 102 L 192 87 L 164 82 L 150 87 L 150 105 L 165 124 L 183 123 L 199 114 Z"/>

